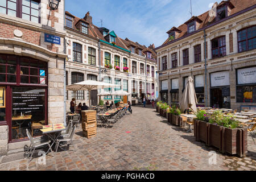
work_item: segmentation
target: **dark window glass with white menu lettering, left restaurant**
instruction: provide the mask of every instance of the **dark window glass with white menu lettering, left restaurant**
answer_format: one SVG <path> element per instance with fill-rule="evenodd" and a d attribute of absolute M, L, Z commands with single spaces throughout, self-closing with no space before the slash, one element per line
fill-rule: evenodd
<path fill-rule="evenodd" d="M 32 115 L 31 121 L 45 120 L 46 89 L 13 88 L 13 117 Z"/>

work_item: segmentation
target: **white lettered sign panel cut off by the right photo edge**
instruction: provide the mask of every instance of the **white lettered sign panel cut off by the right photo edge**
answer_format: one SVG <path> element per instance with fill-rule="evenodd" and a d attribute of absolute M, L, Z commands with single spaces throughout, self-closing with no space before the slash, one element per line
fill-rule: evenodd
<path fill-rule="evenodd" d="M 256 83 L 256 67 L 237 69 L 237 83 L 255 84 Z"/>

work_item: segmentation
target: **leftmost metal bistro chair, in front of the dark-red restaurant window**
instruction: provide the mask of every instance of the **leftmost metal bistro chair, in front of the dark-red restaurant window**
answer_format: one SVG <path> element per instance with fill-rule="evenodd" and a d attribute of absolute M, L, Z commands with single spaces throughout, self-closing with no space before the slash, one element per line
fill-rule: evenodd
<path fill-rule="evenodd" d="M 49 149 L 52 152 L 52 148 L 51 148 L 51 146 L 49 144 L 51 142 L 51 140 L 49 140 L 48 137 L 45 136 L 45 137 L 32 138 L 32 136 L 31 136 L 30 132 L 28 131 L 28 129 L 26 129 L 26 132 L 27 132 L 27 137 L 30 140 L 30 147 L 27 147 L 25 149 L 25 155 L 27 156 L 27 158 L 30 157 L 30 159 L 28 160 L 28 163 L 31 162 L 32 156 L 33 156 L 36 148 L 41 148 L 43 146 L 48 146 Z"/>

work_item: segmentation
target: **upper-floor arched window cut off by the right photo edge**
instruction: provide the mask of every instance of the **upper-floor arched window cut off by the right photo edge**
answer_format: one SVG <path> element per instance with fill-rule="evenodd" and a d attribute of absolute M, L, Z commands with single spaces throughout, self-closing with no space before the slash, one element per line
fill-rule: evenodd
<path fill-rule="evenodd" d="M 238 52 L 256 48 L 256 26 L 247 27 L 237 32 Z"/>

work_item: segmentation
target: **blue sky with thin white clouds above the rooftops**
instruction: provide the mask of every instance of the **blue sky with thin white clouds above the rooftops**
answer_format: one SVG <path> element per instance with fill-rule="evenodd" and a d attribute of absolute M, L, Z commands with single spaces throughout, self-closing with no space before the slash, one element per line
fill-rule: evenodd
<path fill-rule="evenodd" d="M 209 4 L 221 0 L 192 0 L 192 14 L 208 11 Z M 129 38 L 145 46 L 160 46 L 166 32 L 191 18 L 190 0 L 66 0 L 65 9 L 83 18 L 90 11 L 93 24 L 103 27 L 122 39 Z"/>

